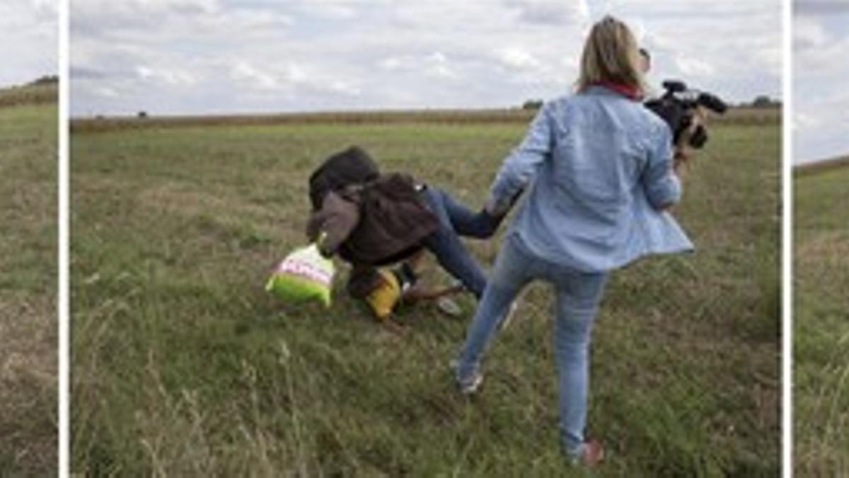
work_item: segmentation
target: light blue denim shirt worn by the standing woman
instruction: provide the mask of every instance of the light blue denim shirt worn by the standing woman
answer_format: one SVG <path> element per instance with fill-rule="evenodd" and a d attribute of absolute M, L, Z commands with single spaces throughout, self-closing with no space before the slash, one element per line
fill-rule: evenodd
<path fill-rule="evenodd" d="M 604 87 L 549 101 L 504 161 L 492 201 L 527 189 L 508 235 L 534 253 L 603 272 L 693 244 L 670 213 L 681 184 L 672 132 L 638 101 Z"/>

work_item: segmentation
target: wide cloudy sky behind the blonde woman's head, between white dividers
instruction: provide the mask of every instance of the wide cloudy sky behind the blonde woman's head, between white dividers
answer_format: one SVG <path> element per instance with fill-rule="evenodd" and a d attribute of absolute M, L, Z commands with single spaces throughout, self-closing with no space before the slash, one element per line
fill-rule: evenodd
<path fill-rule="evenodd" d="M 4 0 L 5 1 L 5 0 Z M 72 113 L 498 107 L 568 91 L 604 13 L 728 100 L 780 96 L 779 0 L 72 0 Z"/>

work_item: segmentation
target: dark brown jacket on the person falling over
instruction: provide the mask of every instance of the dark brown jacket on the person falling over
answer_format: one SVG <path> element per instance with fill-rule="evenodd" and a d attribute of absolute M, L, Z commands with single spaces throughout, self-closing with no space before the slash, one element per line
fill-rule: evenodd
<path fill-rule="evenodd" d="M 384 174 L 365 185 L 328 192 L 314 211 L 306 234 L 325 255 L 339 253 L 354 265 L 386 265 L 419 251 L 422 239 L 436 230 L 413 178 Z"/>

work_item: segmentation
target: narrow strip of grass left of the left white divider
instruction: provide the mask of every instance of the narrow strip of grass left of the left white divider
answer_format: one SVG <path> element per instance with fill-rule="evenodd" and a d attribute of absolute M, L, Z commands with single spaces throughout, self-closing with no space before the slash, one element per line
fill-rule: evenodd
<path fill-rule="evenodd" d="M 56 475 L 56 131 L 0 107 L 0 476 Z"/>

